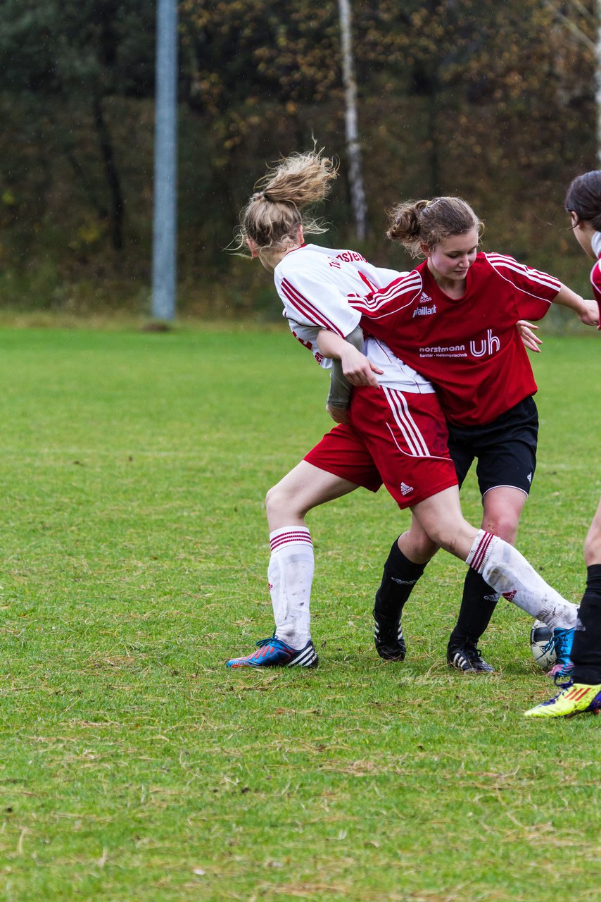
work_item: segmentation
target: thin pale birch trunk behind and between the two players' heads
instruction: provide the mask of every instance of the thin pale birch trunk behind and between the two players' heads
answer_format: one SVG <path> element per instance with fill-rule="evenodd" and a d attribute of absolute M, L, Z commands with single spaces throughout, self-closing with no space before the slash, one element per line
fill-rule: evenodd
<path fill-rule="evenodd" d="M 599 0 L 601 3 L 601 0 Z M 346 149 L 349 158 L 351 205 L 357 237 L 367 235 L 367 204 L 361 172 L 361 149 L 357 125 L 357 82 L 352 54 L 351 0 L 338 0 L 341 27 L 342 84 L 344 86 Z"/>

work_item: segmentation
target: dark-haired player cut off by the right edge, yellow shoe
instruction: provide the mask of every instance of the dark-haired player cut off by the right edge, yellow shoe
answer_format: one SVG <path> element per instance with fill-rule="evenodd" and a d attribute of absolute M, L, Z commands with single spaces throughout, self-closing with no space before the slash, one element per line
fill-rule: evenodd
<path fill-rule="evenodd" d="M 601 171 L 574 179 L 565 206 L 578 244 L 595 261 L 590 281 L 601 313 Z M 587 588 L 578 608 L 571 679 L 554 698 L 526 711 L 526 717 L 601 713 L 601 501 L 585 539 L 584 558 Z"/>

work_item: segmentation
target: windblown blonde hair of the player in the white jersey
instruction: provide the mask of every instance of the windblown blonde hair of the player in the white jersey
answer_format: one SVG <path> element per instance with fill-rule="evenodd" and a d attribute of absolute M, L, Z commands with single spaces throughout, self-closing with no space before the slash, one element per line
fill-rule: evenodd
<path fill-rule="evenodd" d="M 232 247 L 234 252 L 244 251 L 248 238 L 259 253 L 268 248 L 284 249 L 296 243 L 298 226 L 303 226 L 305 235 L 327 232 L 327 228 L 311 215 L 311 207 L 329 194 L 330 182 L 338 172 L 338 162 L 322 154 L 323 149 L 292 153 L 269 167 L 241 210 Z"/>

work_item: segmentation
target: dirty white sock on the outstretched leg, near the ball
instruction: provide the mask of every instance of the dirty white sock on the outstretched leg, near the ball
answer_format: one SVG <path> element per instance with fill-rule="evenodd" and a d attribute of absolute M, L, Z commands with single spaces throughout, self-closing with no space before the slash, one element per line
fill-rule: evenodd
<path fill-rule="evenodd" d="M 498 536 L 478 530 L 466 560 L 496 592 L 536 620 L 571 630 L 576 626 L 578 605 L 562 598 L 545 583 L 520 552 Z"/>

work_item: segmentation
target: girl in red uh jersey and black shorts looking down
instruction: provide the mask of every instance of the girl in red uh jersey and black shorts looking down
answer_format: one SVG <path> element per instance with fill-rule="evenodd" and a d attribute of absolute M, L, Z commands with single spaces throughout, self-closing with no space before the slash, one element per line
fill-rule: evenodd
<path fill-rule="evenodd" d="M 551 301 L 573 309 L 587 325 L 596 325 L 598 312 L 593 301 L 547 273 L 503 254 L 478 253 L 480 230 L 461 198 L 398 205 L 387 235 L 425 259 L 386 289 L 351 304 L 366 332 L 433 382 L 459 482 L 476 458 L 482 528 L 513 544 L 533 479 L 538 433 L 536 383 L 516 320 L 542 318 Z M 393 652 L 403 604 L 434 551 L 415 520 L 391 548 L 374 614 L 380 640 L 384 626 Z M 469 571 L 447 650 L 451 666 L 492 669 L 477 643 L 497 598 L 481 575 Z M 378 650 L 387 656 L 387 648 Z M 551 675 L 569 667 L 569 649 L 562 649 Z"/>

